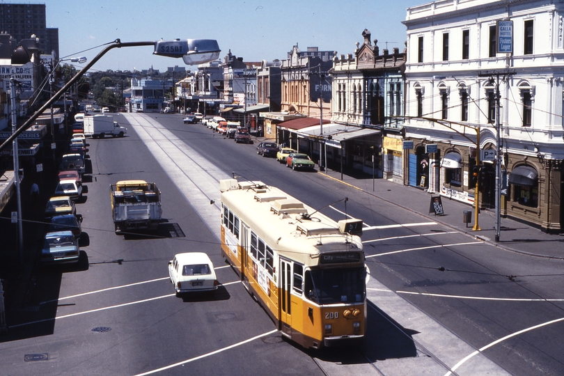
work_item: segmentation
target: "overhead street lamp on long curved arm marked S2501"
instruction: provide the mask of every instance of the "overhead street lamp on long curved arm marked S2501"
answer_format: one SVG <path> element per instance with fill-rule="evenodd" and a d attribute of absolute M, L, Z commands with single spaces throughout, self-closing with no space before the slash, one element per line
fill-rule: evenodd
<path fill-rule="evenodd" d="M 169 56 L 173 58 L 182 58 L 185 64 L 194 65 L 194 64 L 203 64 L 208 63 L 210 61 L 217 60 L 219 58 L 219 53 L 221 49 L 219 49 L 219 45 L 217 44 L 217 40 L 214 39 L 175 39 L 175 40 L 157 40 L 157 41 L 146 41 L 146 42 L 122 42 L 119 39 L 114 40 L 113 42 L 109 42 L 107 46 L 102 49 L 90 63 L 88 63 L 84 68 L 82 68 L 75 77 L 72 77 L 61 90 L 56 92 L 50 100 L 45 102 L 43 106 L 33 113 L 33 115 L 22 125 L 19 127 L 11 136 L 6 139 L 0 145 L 0 151 L 6 148 L 10 142 L 17 139 L 17 136 L 27 130 L 33 122 L 40 116 L 43 111 L 48 109 L 51 104 L 56 102 L 58 98 L 68 91 L 70 86 L 75 84 L 76 81 L 80 79 L 86 73 L 92 65 L 94 65 L 102 56 L 104 56 L 110 49 L 114 48 L 123 48 L 123 47 L 141 47 L 141 46 L 153 46 L 155 50 L 153 51 L 154 55 L 159 56 Z"/>

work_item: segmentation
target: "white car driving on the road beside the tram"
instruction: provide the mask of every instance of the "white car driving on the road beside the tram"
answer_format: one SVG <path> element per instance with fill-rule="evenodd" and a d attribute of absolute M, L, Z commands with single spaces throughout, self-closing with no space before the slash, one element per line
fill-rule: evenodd
<path fill-rule="evenodd" d="M 203 252 L 178 253 L 169 261 L 169 276 L 176 295 L 217 290 L 212 260 Z"/>

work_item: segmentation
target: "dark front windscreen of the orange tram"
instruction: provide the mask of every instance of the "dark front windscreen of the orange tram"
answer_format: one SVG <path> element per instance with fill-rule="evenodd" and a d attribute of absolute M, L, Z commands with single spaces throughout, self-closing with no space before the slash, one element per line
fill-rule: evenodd
<path fill-rule="evenodd" d="M 366 293 L 366 269 L 312 269 L 304 281 L 306 297 L 317 304 L 362 303 Z"/>

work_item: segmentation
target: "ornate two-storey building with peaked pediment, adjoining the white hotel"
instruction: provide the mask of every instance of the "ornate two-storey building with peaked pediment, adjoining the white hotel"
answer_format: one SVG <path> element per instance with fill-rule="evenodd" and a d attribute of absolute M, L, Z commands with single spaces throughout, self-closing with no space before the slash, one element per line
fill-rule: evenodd
<path fill-rule="evenodd" d="M 377 169 L 384 178 L 402 183 L 402 120 L 398 119 L 404 115 L 406 54 L 398 48 L 394 48 L 392 54 L 388 49 L 380 54 L 377 40 L 374 45 L 370 41 L 370 31 L 364 29 L 362 36 L 363 43 L 357 42 L 354 54 L 333 59 L 330 75 L 333 80 L 331 121 L 364 130 L 349 130 L 333 139 L 340 140 L 338 148 L 342 149 L 341 144 L 345 143 L 345 167 L 366 172 Z M 334 143 L 328 143 L 331 144 Z M 337 150 L 333 151 L 336 154 Z M 334 155 L 334 159 L 337 158 Z"/>

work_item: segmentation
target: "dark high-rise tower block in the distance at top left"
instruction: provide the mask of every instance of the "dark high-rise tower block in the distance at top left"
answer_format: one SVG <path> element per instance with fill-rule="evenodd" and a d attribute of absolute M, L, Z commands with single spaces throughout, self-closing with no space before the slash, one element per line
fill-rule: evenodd
<path fill-rule="evenodd" d="M 47 27 L 45 14 L 45 4 L 0 3 L 0 29 L 17 42 L 34 34 L 39 38 L 40 52 L 47 55 L 54 52 L 57 59 L 58 29 Z"/>

